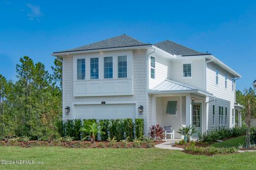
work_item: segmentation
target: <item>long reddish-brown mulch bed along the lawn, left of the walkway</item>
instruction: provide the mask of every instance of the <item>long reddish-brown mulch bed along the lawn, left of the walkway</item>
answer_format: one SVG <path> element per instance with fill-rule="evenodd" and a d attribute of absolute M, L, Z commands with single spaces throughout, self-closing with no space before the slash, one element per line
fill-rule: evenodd
<path fill-rule="evenodd" d="M 154 141 L 153 143 L 141 143 L 141 146 L 134 146 L 133 142 L 128 142 L 127 146 L 124 146 L 122 142 L 116 142 L 115 145 L 110 146 L 108 141 L 72 141 L 72 142 L 47 142 L 47 141 L 36 141 L 31 140 L 29 142 L 5 142 L 0 141 L 0 146 L 20 146 L 24 148 L 34 146 L 61 146 L 66 148 L 151 148 L 155 145 L 163 143 L 164 141 Z"/>

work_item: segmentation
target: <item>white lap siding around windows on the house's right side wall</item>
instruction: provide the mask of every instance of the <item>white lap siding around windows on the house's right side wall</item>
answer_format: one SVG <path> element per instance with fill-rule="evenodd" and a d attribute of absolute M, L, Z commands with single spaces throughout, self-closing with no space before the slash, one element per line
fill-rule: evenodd
<path fill-rule="evenodd" d="M 206 67 L 206 90 L 209 91 L 211 94 L 217 97 L 217 101 L 209 103 L 209 123 L 208 123 L 208 129 L 215 129 L 219 126 L 219 106 L 224 107 L 224 116 L 225 116 L 225 107 L 227 107 L 228 111 L 228 118 L 227 118 L 227 125 L 224 123 L 223 118 L 223 124 L 226 127 L 233 127 L 232 124 L 232 109 L 234 108 L 235 103 L 235 87 L 234 91 L 232 91 L 232 76 L 227 73 L 228 80 L 227 80 L 227 88 L 225 88 L 225 70 L 219 69 L 219 83 L 218 85 L 215 84 L 215 64 L 214 63 L 208 63 Z M 212 100 L 210 98 L 209 100 Z M 215 119 L 214 123 L 215 125 L 212 125 L 212 105 L 215 105 Z"/>

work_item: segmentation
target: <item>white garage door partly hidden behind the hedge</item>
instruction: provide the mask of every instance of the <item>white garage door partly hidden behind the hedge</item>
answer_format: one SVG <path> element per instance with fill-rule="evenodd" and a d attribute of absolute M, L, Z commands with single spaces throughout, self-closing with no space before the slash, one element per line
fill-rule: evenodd
<path fill-rule="evenodd" d="M 75 105 L 76 118 L 135 118 L 135 104 Z"/>

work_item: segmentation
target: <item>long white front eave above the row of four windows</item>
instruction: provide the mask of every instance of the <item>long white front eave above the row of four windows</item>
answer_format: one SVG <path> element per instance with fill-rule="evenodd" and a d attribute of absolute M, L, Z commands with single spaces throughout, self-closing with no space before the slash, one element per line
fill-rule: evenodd
<path fill-rule="evenodd" d="M 81 54 L 81 53 L 93 53 L 93 52 L 107 52 L 111 50 L 126 50 L 126 49 L 148 49 L 152 48 L 153 45 L 136 45 L 136 46 L 125 46 L 125 47 L 111 47 L 111 48 L 97 48 L 97 49 L 87 49 L 87 50 L 70 50 L 67 52 L 54 52 L 52 56 L 68 56 L 73 54 Z"/>

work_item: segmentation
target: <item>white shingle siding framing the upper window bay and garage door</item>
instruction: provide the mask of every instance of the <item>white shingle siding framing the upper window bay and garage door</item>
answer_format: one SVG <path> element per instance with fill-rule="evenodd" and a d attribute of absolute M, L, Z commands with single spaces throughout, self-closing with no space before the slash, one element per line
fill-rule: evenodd
<path fill-rule="evenodd" d="M 118 53 L 118 52 L 115 52 Z M 122 53 L 122 52 L 121 52 Z M 100 54 L 99 54 L 100 56 Z M 133 95 L 131 96 L 93 96 L 93 97 L 74 97 L 73 95 L 73 57 L 63 57 L 63 120 L 76 118 L 73 114 L 74 103 L 88 103 L 99 101 L 134 101 L 135 116 L 138 118 L 144 118 L 145 130 L 147 129 L 147 50 L 134 50 L 132 51 L 133 68 L 130 71 L 133 80 Z M 115 70 L 114 70 L 115 71 Z M 100 73 L 101 74 L 101 73 Z M 100 81 L 100 80 L 99 80 Z M 143 115 L 138 115 L 137 106 L 142 105 L 144 107 Z M 70 114 L 65 115 L 65 107 L 70 107 Z M 77 117 L 79 118 L 79 117 Z"/>

